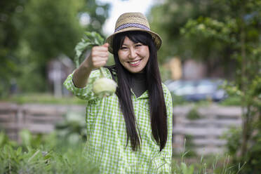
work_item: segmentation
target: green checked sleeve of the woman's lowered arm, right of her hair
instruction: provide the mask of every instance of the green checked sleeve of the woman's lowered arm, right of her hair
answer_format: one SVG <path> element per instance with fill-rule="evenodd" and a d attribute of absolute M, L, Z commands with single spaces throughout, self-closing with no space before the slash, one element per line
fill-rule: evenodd
<path fill-rule="evenodd" d="M 167 111 L 167 121 L 168 121 L 168 140 L 166 142 L 166 146 L 162 149 L 163 154 L 166 154 L 166 164 L 164 168 L 166 170 L 171 170 L 171 159 L 172 159 L 172 131 L 173 131 L 173 105 L 172 105 L 172 97 L 168 88 L 163 84 L 163 93 L 165 98 L 166 104 L 166 111 Z M 168 168 L 168 169 L 167 169 Z"/>

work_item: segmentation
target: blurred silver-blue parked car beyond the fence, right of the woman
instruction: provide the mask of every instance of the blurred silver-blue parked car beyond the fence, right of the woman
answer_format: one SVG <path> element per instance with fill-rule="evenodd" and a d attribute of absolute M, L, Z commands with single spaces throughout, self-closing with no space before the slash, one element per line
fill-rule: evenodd
<path fill-rule="evenodd" d="M 182 96 L 187 101 L 213 100 L 219 102 L 227 97 L 224 89 L 220 88 L 222 80 L 201 79 L 195 81 L 166 81 L 170 93 Z"/>

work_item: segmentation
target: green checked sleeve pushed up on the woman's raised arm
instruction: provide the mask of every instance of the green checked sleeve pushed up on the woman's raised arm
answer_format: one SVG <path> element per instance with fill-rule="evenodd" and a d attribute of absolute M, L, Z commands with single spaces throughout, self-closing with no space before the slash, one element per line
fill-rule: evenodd
<path fill-rule="evenodd" d="M 72 81 L 73 74 L 74 72 L 67 76 L 67 79 L 63 83 L 65 88 L 67 88 L 67 90 L 71 91 L 76 97 L 81 98 L 82 100 L 90 101 L 97 99 L 93 93 L 93 82 L 95 79 L 100 77 L 100 70 L 94 70 L 91 72 L 90 76 L 88 77 L 88 83 L 84 88 L 77 88 L 74 86 L 74 82 Z"/>

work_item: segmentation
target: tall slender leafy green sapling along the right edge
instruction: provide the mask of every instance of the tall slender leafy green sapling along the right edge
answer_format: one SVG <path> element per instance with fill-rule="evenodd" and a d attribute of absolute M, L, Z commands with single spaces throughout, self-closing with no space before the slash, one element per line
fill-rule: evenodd
<path fill-rule="evenodd" d="M 241 98 L 243 120 L 240 146 L 233 158 L 236 162 L 247 161 L 246 166 L 249 166 L 243 170 L 245 173 L 255 173 L 261 169 L 261 148 L 258 148 L 261 145 L 258 139 L 261 131 L 261 1 L 215 3 L 227 6 L 224 19 L 200 17 L 189 20 L 181 32 L 187 39 L 197 38 L 201 43 L 211 39 L 229 46 L 230 55 L 237 61 L 236 79 L 227 85 L 230 95 Z M 257 154 L 260 154 L 259 158 Z"/>

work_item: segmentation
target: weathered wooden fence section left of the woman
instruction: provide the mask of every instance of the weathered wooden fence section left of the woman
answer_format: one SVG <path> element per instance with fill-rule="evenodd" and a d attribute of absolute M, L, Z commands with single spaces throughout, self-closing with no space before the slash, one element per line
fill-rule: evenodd
<path fill-rule="evenodd" d="M 64 119 L 67 112 L 82 112 L 81 105 L 15 105 L 0 103 L 0 128 L 12 140 L 19 140 L 18 133 L 23 128 L 32 133 L 51 133 L 55 124 Z"/>

